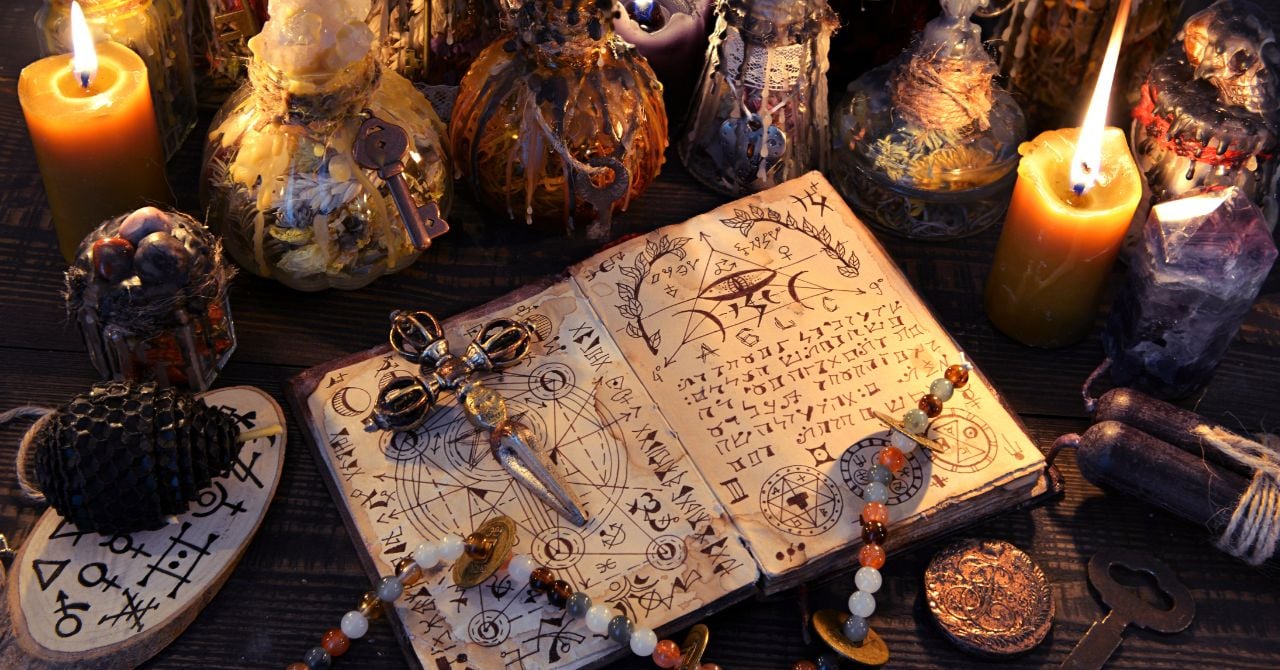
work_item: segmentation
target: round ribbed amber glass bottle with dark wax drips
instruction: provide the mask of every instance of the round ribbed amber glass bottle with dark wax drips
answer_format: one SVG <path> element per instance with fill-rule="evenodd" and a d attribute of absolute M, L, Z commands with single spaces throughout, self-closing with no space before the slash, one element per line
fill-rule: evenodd
<path fill-rule="evenodd" d="M 607 240 L 662 167 L 662 85 L 614 35 L 611 0 L 530 0 L 513 20 L 458 88 L 454 167 L 512 220 Z"/>

